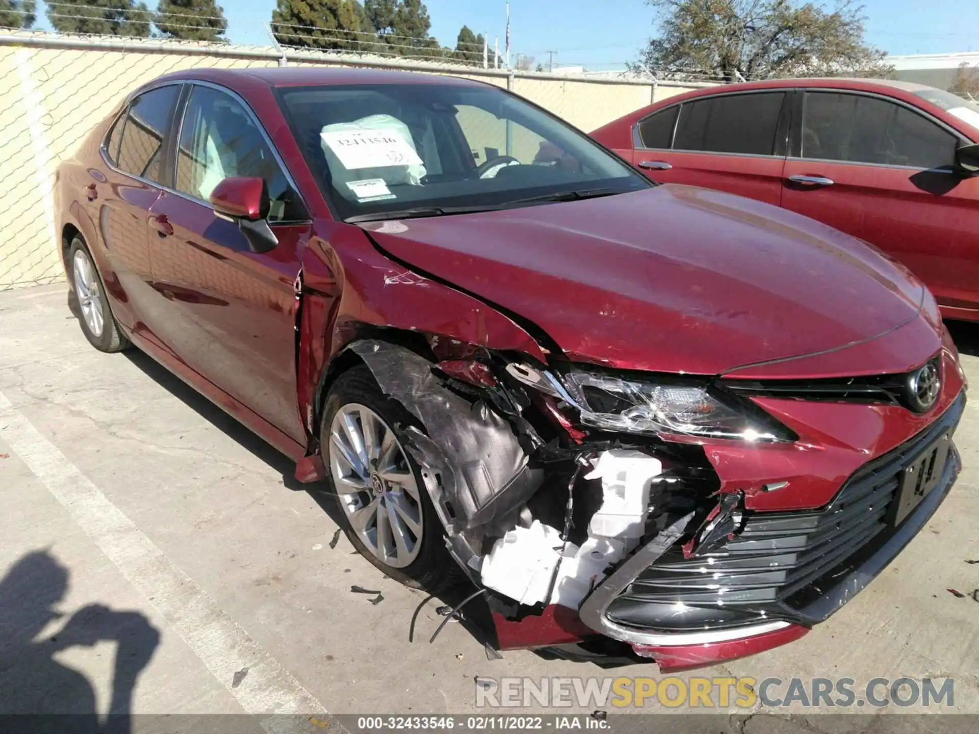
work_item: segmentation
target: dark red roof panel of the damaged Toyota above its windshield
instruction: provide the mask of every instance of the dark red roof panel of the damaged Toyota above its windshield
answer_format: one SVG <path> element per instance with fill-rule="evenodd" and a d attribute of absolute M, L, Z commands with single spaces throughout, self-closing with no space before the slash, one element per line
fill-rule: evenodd
<path fill-rule="evenodd" d="M 452 86 L 484 86 L 473 79 L 458 76 L 398 71 L 393 69 L 350 69 L 343 67 L 284 67 L 269 69 L 186 69 L 154 79 L 161 81 L 211 81 L 235 88 L 239 85 L 264 82 L 273 87 L 329 86 L 340 84 L 445 84 Z"/>

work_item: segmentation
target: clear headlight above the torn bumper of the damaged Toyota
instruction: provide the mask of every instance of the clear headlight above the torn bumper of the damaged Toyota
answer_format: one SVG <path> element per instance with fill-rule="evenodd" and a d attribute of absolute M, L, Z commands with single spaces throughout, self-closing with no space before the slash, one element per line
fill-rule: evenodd
<path fill-rule="evenodd" d="M 751 441 L 795 436 L 754 404 L 706 383 L 628 379 L 574 370 L 564 375 L 582 423 L 630 434 L 685 434 Z"/>

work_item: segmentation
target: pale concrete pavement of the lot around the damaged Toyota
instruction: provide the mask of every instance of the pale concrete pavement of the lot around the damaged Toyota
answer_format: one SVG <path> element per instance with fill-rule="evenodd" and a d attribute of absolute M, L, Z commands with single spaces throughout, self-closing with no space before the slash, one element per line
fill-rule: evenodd
<path fill-rule="evenodd" d="M 97 711 L 461 713 L 477 676 L 610 674 L 490 661 L 460 623 L 430 645 L 435 603 L 409 642 L 424 594 L 355 555 L 290 462 L 206 398 L 138 351 L 91 348 L 66 300 L 64 285 L 0 293 L 0 652 L 17 646 L 0 656 L 0 710 L 22 695 L 74 706 L 83 676 Z M 979 354 L 979 327 L 954 329 Z M 979 382 L 979 357 L 962 360 Z M 955 489 L 890 568 L 799 642 L 703 674 L 954 677 L 955 711 L 979 713 L 977 411 L 956 434 Z M 114 687 L 123 651 L 130 680 Z"/>

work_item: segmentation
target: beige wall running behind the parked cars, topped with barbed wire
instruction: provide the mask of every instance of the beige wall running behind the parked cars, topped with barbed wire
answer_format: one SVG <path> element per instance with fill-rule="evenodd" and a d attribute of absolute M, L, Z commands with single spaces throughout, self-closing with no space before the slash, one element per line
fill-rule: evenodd
<path fill-rule="evenodd" d="M 52 200 L 55 169 L 127 92 L 178 69 L 277 66 L 273 58 L 246 60 L 190 54 L 179 45 L 173 48 L 173 53 L 160 53 L 0 45 L 0 290 L 64 277 Z M 466 75 L 507 85 L 505 77 Z M 572 77 L 518 76 L 513 81 L 517 94 L 585 131 L 648 105 L 653 95 L 651 85 L 603 84 Z M 660 86 L 656 96 L 665 99 L 680 91 L 685 90 Z M 483 148 L 505 150 L 503 123 L 472 122 L 482 125 Z M 539 140 L 525 133 L 515 132 L 514 154 L 533 160 Z"/>

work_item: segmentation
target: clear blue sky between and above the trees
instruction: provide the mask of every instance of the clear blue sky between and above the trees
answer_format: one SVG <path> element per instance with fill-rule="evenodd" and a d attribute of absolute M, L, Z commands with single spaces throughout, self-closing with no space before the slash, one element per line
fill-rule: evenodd
<path fill-rule="evenodd" d="M 972 0 L 974 2 L 974 0 Z M 262 23 L 275 0 L 218 0 L 233 43 L 267 45 Z M 41 3 L 38 3 L 40 5 Z M 154 0 L 148 0 L 154 6 Z M 928 54 L 979 50 L 979 13 L 967 0 L 863 0 L 866 40 L 890 54 Z M 499 36 L 503 49 L 505 0 L 426 0 L 431 33 L 454 46 L 459 28 L 469 25 Z M 826 3 L 833 5 L 833 0 Z M 38 9 L 38 27 L 48 27 Z M 637 58 L 653 34 L 654 10 L 645 0 L 511 0 L 511 50 L 555 66 L 621 69 Z"/>

